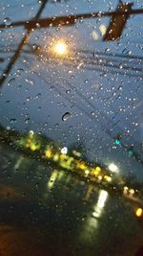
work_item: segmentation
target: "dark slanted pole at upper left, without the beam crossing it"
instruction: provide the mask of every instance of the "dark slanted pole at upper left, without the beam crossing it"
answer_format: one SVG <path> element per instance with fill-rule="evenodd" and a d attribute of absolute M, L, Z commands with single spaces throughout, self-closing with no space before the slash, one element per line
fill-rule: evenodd
<path fill-rule="evenodd" d="M 36 15 L 33 18 L 33 20 L 39 19 L 41 13 L 43 12 L 44 8 L 46 7 L 47 2 L 48 2 L 48 0 L 44 0 L 43 1 L 43 3 L 41 4 L 40 9 L 36 13 Z M 14 65 L 14 63 L 16 62 L 17 58 L 19 58 L 20 52 L 22 51 L 23 47 L 25 46 L 25 44 L 27 44 L 28 37 L 31 34 L 31 31 L 32 31 L 32 28 L 28 28 L 27 29 L 27 33 L 26 33 L 26 35 L 24 35 L 24 37 L 22 38 L 21 42 L 19 43 L 18 48 L 17 48 L 15 54 L 12 56 L 12 58 L 10 58 L 10 62 L 8 64 L 8 66 L 6 67 L 6 69 L 4 70 L 2 77 L 0 78 L 0 87 L 2 87 L 4 81 L 9 76 L 10 70 L 11 70 L 12 66 Z"/>

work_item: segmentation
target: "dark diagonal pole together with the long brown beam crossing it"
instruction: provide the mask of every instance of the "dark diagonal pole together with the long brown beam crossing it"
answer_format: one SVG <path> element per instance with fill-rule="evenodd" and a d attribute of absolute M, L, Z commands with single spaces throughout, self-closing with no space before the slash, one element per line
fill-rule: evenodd
<path fill-rule="evenodd" d="M 17 27 L 17 26 L 25 26 L 27 29 L 27 34 L 22 38 L 21 42 L 18 45 L 18 48 L 14 54 L 14 56 L 10 59 L 10 62 L 7 66 L 7 68 L 4 70 L 3 76 L 0 78 L 0 87 L 2 86 L 3 82 L 6 80 L 8 75 L 10 74 L 10 70 L 12 66 L 14 65 L 15 61 L 19 57 L 19 54 L 23 48 L 23 46 L 27 43 L 28 41 L 28 36 L 31 34 L 31 31 L 33 29 L 38 29 L 38 28 L 44 28 L 44 27 L 53 27 L 53 26 L 60 26 L 60 25 L 72 25 L 74 24 L 78 19 L 85 19 L 85 18 L 95 18 L 95 17 L 105 17 L 105 16 L 129 16 L 132 14 L 140 14 L 143 13 L 143 9 L 138 9 L 138 10 L 132 10 L 132 9 L 123 9 L 122 10 L 117 10 L 115 12 L 92 12 L 92 13 L 83 13 L 83 14 L 76 14 L 76 15 L 68 15 L 68 16 L 54 16 L 51 18 L 44 18 L 44 19 L 39 19 L 41 12 L 44 10 L 46 3 L 48 0 L 43 1 L 43 4 L 41 5 L 39 11 L 35 15 L 33 19 L 30 21 L 20 21 L 20 22 L 14 22 L 11 23 L 10 25 L 7 24 L 0 24 L 0 28 L 12 28 Z"/>

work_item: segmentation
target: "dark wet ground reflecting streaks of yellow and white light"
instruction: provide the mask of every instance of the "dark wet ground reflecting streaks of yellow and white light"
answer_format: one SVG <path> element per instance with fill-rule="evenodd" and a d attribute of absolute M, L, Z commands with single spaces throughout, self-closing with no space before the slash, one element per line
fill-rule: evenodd
<path fill-rule="evenodd" d="M 142 244 L 118 195 L 10 150 L 0 160 L 0 255 L 133 256 Z"/>

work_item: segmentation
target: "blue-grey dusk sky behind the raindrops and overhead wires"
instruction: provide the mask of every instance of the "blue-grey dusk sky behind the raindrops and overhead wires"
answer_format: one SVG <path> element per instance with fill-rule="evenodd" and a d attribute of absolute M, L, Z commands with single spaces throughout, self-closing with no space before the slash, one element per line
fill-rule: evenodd
<path fill-rule="evenodd" d="M 49 1 L 41 17 L 108 12 L 115 10 L 117 3 Z M 40 5 L 36 0 L 1 1 L 0 23 L 30 20 Z M 133 9 L 140 8 L 142 1 L 133 1 Z M 0 122 L 5 127 L 44 133 L 63 146 L 82 143 L 92 161 L 114 162 L 121 173 L 143 178 L 142 165 L 123 147 L 114 149 L 113 145 L 113 138 L 120 133 L 123 145 L 133 145 L 143 159 L 143 77 L 138 71 L 143 62 L 143 17 L 133 15 L 120 39 L 104 42 L 102 28 L 109 22 L 109 18 L 92 18 L 32 32 L 0 89 Z M 1 74 L 25 33 L 23 27 L 1 30 Z M 68 44 L 71 60 L 51 56 L 51 42 L 58 39 Z M 31 54 L 37 45 L 40 53 Z"/>

